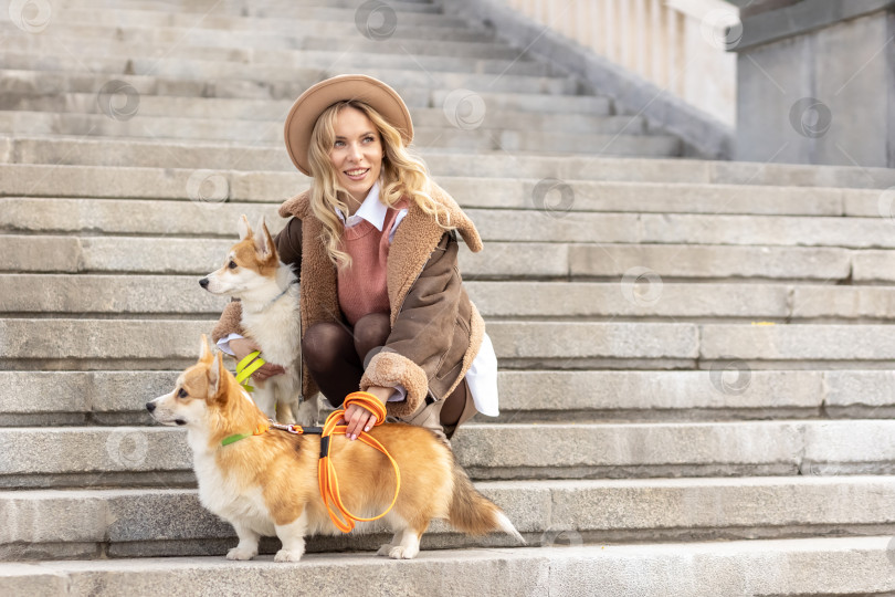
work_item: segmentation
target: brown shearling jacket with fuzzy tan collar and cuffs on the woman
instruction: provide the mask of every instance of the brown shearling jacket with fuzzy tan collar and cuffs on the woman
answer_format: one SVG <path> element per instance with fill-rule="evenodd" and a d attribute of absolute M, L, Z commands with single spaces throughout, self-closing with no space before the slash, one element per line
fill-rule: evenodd
<path fill-rule="evenodd" d="M 482 239 L 460 206 L 433 185 L 432 198 L 446 209 L 473 252 Z M 288 199 L 280 216 L 293 218 L 276 237 L 280 259 L 299 273 L 302 335 L 318 322 L 344 322 L 336 290 L 336 266 L 322 241 L 323 224 L 310 209 L 309 191 Z M 371 386 L 407 388 L 407 399 L 389 402 L 389 415 L 409 418 L 428 396 L 440 400 L 466 375 L 478 353 L 485 323 L 462 285 L 457 269 L 457 241 L 415 203 L 394 233 L 387 264 L 391 333 L 385 348 L 367 366 L 360 389 Z M 241 333 L 242 310 L 230 303 L 212 332 L 214 342 Z M 305 396 L 318 391 L 304 375 Z"/>

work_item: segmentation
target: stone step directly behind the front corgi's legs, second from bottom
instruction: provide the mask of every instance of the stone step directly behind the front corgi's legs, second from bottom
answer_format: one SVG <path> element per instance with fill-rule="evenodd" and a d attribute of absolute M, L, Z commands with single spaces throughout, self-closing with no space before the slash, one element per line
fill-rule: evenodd
<path fill-rule="evenodd" d="M 498 504 L 527 542 L 547 535 L 604 543 L 882 535 L 895 530 L 895 479 L 793 476 L 609 481 L 497 481 L 477 489 Z M 612 507 L 593 507 L 612 504 Z M 191 489 L 0 492 L 3 559 L 224 555 L 230 524 L 206 511 Z M 385 525 L 351 536 L 312 537 L 309 553 L 376 549 Z M 278 548 L 265 542 L 262 554 Z M 519 547 L 512 537 L 465 537 L 435 522 L 423 549 Z"/>

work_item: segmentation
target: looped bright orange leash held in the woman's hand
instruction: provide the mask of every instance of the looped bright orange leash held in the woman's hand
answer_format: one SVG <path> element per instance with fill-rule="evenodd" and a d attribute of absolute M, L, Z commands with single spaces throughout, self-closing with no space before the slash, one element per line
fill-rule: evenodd
<path fill-rule="evenodd" d="M 336 468 L 333 465 L 333 462 L 329 459 L 329 438 L 334 433 L 337 436 L 345 434 L 345 430 L 348 428 L 348 426 L 337 426 L 336 421 L 338 421 L 345 413 L 345 408 L 352 404 L 360 405 L 376 415 L 375 425 L 382 425 L 382 422 L 386 420 L 386 405 L 380 402 L 379 399 L 372 394 L 366 391 L 355 391 L 345 398 L 344 408 L 333 411 L 333 413 L 326 418 L 326 422 L 324 423 L 323 433 L 320 434 L 320 460 L 317 465 L 317 479 L 320 484 L 320 498 L 323 498 L 326 510 L 329 513 L 329 520 L 331 520 L 333 524 L 335 524 L 343 533 L 349 533 L 355 527 L 355 521 L 377 521 L 388 514 L 394 506 L 394 502 L 398 501 L 398 493 L 401 491 L 401 471 L 398 469 L 398 463 L 394 461 L 388 450 L 386 450 L 386 448 L 376 440 L 376 438 L 361 431 L 357 439 L 367 446 L 376 448 L 386 454 L 386 458 L 391 461 L 391 465 L 394 469 L 396 479 L 394 498 L 391 499 L 391 504 L 389 504 L 389 507 L 387 507 L 385 512 L 371 519 L 361 519 L 360 516 L 351 514 L 341 502 L 341 495 L 339 494 L 339 480 L 336 475 Z M 330 502 L 333 505 L 330 505 Z"/>

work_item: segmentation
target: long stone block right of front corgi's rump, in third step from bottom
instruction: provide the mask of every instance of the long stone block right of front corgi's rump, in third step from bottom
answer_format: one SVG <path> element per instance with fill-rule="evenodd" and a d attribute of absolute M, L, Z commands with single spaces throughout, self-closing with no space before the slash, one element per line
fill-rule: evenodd
<path fill-rule="evenodd" d="M 483 423 L 467 427 L 453 443 L 460 461 L 476 476 L 518 478 L 538 467 L 544 467 L 538 472 L 541 478 L 666 476 L 698 471 L 702 475 L 735 474 L 745 470 L 791 474 L 804 449 L 801 436 L 801 423 L 790 422 Z M 549 449 L 531 450 L 531 441 Z M 891 454 L 884 458 L 888 460 Z"/>

